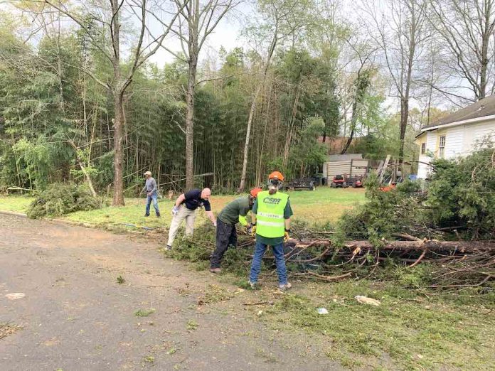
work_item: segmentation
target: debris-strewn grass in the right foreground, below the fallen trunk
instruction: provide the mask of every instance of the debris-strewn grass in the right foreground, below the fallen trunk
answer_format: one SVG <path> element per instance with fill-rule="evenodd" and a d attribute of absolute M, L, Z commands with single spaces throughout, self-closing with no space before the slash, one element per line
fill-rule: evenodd
<path fill-rule="evenodd" d="M 356 295 L 381 305 L 358 303 Z M 309 282 L 275 299 L 262 321 L 311 334 L 329 359 L 350 369 L 494 370 L 494 303 L 476 295 L 464 302 L 454 294 L 432 295 L 366 279 Z M 257 300 L 274 299 L 263 290 Z M 317 308 L 329 313 L 320 315 Z"/>

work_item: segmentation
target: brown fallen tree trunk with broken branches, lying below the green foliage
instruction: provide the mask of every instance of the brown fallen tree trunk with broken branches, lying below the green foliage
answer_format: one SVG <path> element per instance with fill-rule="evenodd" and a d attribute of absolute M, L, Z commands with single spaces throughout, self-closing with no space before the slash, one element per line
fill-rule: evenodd
<path fill-rule="evenodd" d="M 406 234 L 395 237 L 406 241 L 383 241 L 380 247 L 369 241 L 347 241 L 344 247 L 336 247 L 330 240 L 289 239 L 285 244 L 285 258 L 297 264 L 299 273 L 292 273 L 295 276 L 321 281 L 358 278 L 363 274 L 357 270 L 361 267 L 371 269 L 370 276 L 378 265 L 390 260 L 408 268 L 423 262 L 436 264 L 432 276 L 434 285 L 430 286 L 435 289 L 480 287 L 489 285 L 495 278 L 493 241 L 420 240 Z M 339 269 L 341 274 L 330 275 L 334 269 Z"/>

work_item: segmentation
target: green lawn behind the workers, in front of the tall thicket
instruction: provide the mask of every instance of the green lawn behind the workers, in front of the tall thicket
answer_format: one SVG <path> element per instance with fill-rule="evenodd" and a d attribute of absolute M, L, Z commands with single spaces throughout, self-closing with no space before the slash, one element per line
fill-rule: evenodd
<path fill-rule="evenodd" d="M 320 187 L 314 191 L 301 190 L 289 192 L 294 220 L 315 223 L 336 222 L 344 210 L 352 208 L 356 203 L 364 201 L 363 189 L 333 189 Z M 213 195 L 211 204 L 215 214 L 239 195 Z M 33 198 L 23 196 L 0 197 L 0 210 L 26 213 L 29 203 Z M 127 198 L 123 208 L 104 207 L 92 211 L 78 211 L 65 215 L 62 218 L 74 222 L 85 222 L 101 227 L 117 227 L 121 229 L 142 229 L 169 227 L 171 222 L 171 209 L 175 200 L 159 200 L 161 218 L 154 216 L 151 206 L 151 216 L 144 217 L 145 198 Z M 199 211 L 196 223 L 206 220 L 205 213 Z"/>

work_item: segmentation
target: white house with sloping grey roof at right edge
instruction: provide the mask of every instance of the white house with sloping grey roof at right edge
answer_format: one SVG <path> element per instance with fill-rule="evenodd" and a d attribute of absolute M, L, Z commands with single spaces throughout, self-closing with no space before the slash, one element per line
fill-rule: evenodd
<path fill-rule="evenodd" d="M 417 177 L 425 179 L 432 158 L 466 156 L 490 138 L 495 141 L 495 95 L 484 98 L 449 116 L 422 127 L 416 136 L 420 146 Z"/>

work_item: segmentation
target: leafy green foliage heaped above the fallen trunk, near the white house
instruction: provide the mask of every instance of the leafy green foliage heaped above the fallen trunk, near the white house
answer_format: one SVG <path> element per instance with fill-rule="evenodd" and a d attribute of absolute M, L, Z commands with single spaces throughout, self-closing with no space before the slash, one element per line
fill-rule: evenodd
<path fill-rule="evenodd" d="M 371 175 L 367 202 L 341 218 L 335 242 L 367 239 L 376 246 L 393 232 L 431 238 L 442 227 L 460 225 L 464 238 L 495 235 L 495 149 L 480 149 L 464 158 L 432 161 L 434 171 L 427 192 L 419 182 L 405 181 L 388 192 Z M 442 236 L 447 238 L 447 235 Z M 457 236 L 454 236 L 457 238 Z"/>

